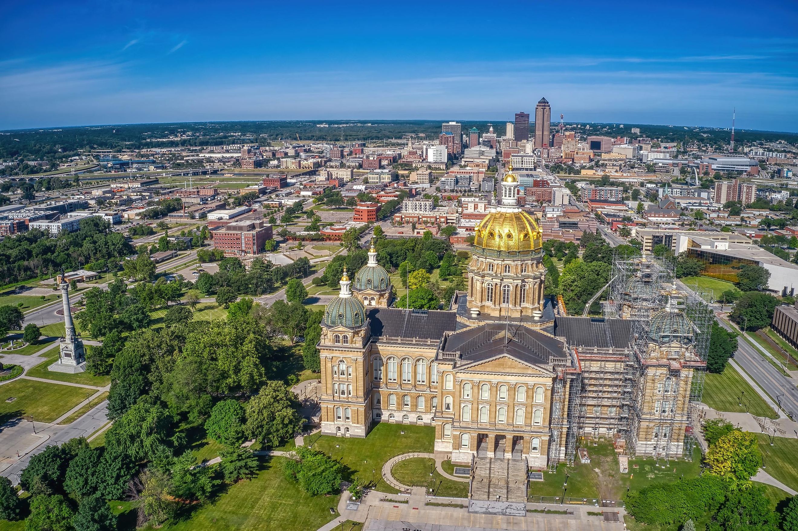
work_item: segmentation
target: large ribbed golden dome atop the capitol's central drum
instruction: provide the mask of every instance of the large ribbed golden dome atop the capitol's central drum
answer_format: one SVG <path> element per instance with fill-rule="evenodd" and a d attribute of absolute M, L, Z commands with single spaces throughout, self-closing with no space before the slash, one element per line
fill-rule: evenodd
<path fill-rule="evenodd" d="M 480 249 L 517 252 L 543 246 L 538 224 L 523 210 L 491 212 L 476 226 L 474 236 L 474 246 Z"/>

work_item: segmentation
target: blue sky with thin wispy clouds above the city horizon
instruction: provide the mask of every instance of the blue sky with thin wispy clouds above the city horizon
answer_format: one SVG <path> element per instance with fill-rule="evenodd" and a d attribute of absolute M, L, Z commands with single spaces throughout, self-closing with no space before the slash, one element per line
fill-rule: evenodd
<path fill-rule="evenodd" d="M 552 118 L 798 132 L 792 2 L 6 2 L 0 128 Z"/>

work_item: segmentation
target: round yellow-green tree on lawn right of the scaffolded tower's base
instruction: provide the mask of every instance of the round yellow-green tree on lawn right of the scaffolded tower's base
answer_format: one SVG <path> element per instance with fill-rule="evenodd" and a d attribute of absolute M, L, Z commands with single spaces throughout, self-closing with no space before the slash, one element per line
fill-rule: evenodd
<path fill-rule="evenodd" d="M 757 435 L 734 430 L 709 447 L 705 458 L 713 474 L 721 478 L 748 481 L 762 466 Z"/>

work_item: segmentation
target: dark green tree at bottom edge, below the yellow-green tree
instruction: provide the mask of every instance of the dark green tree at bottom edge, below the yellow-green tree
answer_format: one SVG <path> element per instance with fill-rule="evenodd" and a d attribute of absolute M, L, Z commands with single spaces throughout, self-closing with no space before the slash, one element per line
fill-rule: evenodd
<path fill-rule="evenodd" d="M 733 490 L 706 526 L 707 531 L 778 531 L 779 517 L 770 509 L 764 486 Z"/>

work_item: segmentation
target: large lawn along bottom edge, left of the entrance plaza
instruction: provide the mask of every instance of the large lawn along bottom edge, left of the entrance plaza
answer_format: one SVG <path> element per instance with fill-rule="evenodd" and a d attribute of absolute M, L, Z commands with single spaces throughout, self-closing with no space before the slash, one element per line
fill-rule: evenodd
<path fill-rule="evenodd" d="M 191 517 L 164 525 L 170 531 L 255 531 L 318 529 L 338 512 L 338 496 L 309 496 L 282 473 L 284 458 L 263 462 L 263 470 L 251 481 L 231 486 L 213 504 L 197 509 Z"/>

